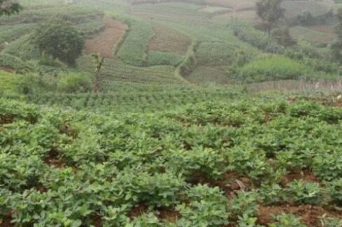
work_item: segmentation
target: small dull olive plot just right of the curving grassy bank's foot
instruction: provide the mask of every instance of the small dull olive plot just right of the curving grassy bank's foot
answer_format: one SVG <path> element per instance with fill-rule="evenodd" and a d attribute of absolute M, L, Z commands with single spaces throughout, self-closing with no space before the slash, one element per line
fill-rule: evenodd
<path fill-rule="evenodd" d="M 229 83 L 228 76 L 224 69 L 217 67 L 196 67 L 189 76 L 185 77 L 186 80 L 193 84 L 203 83 L 217 83 L 227 84 Z"/>

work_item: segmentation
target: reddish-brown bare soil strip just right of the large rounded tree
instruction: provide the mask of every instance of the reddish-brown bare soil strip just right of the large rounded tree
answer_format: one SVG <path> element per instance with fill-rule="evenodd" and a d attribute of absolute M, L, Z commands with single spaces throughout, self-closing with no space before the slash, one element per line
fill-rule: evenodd
<path fill-rule="evenodd" d="M 106 29 L 93 39 L 86 40 L 85 53 L 101 53 L 104 57 L 112 58 L 114 45 L 121 39 L 128 26 L 119 20 L 104 19 Z"/>

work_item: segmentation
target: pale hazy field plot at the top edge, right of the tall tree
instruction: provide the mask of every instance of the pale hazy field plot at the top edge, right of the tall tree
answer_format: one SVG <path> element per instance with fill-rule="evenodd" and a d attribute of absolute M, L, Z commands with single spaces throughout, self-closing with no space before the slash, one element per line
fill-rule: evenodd
<path fill-rule="evenodd" d="M 324 1 L 283 1 L 286 18 L 296 18 L 303 12 L 310 12 L 313 16 L 320 16 L 331 10 L 331 4 Z"/>

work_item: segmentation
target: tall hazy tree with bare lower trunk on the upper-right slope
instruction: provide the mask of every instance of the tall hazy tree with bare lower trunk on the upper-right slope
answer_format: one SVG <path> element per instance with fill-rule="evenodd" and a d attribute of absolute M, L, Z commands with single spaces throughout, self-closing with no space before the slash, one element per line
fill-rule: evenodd
<path fill-rule="evenodd" d="M 257 2 L 257 15 L 263 20 L 264 27 L 271 36 L 273 25 L 284 18 L 285 10 L 280 6 L 282 0 L 259 0 Z"/>

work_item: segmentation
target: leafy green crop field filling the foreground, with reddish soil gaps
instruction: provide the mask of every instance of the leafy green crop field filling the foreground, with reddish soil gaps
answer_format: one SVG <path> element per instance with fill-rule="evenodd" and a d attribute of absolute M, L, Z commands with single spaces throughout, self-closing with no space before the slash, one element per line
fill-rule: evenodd
<path fill-rule="evenodd" d="M 339 226 L 342 109 L 327 99 L 235 96 L 104 115 L 0 99 L 0 219 Z"/>

